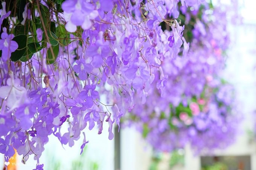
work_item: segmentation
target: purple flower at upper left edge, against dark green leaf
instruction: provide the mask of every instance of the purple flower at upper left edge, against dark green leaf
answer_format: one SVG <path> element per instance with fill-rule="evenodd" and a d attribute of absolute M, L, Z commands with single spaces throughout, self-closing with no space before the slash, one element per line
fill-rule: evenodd
<path fill-rule="evenodd" d="M 6 28 L 3 28 L 3 33 L 0 39 L 0 50 L 2 50 L 2 60 L 7 61 L 11 57 L 11 53 L 17 50 L 18 44 L 16 41 L 12 41 L 13 34 L 8 35 Z"/>

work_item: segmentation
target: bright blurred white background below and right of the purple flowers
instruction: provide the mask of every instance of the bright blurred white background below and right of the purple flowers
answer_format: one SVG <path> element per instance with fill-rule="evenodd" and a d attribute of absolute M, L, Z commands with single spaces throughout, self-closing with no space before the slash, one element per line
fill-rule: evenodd
<path fill-rule="evenodd" d="M 224 3 L 230 3 L 222 0 Z M 114 140 L 108 140 L 107 130 L 102 135 L 93 129 L 87 132 L 89 143 L 80 155 L 82 139 L 72 148 L 61 146 L 51 136 L 41 156 L 45 170 L 256 170 L 256 1 L 239 0 L 242 23 L 230 26 L 231 46 L 228 51 L 224 77 L 235 86 L 241 103 L 243 122 L 236 142 L 225 150 L 211 155 L 194 155 L 190 146 L 172 153 L 155 152 L 133 128 L 115 131 Z M 240 106 L 238 106 L 240 107 Z M 17 158 L 21 160 L 21 157 Z M 29 159 L 27 165 L 17 162 L 18 170 L 35 167 Z M 0 157 L 0 169 L 4 157 Z M 204 167 L 204 168 L 203 168 Z"/>

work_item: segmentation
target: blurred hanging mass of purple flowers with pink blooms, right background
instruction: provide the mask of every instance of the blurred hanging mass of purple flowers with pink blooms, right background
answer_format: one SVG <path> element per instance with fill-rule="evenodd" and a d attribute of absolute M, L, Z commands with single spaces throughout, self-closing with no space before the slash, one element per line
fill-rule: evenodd
<path fill-rule="evenodd" d="M 142 105 L 140 97 L 134 97 L 137 104 L 124 120 L 135 125 L 156 150 L 172 151 L 189 143 L 196 153 L 212 152 L 234 141 L 238 118 L 233 89 L 218 78 L 229 44 L 227 15 L 222 10 L 212 4 L 193 10 L 180 6 L 179 18 L 187 26 L 181 37 L 182 53 L 161 64 L 155 86 L 147 91 L 150 102 Z M 216 18 L 222 20 L 216 24 Z M 169 37 L 167 44 L 173 48 L 175 32 L 164 33 L 162 39 Z"/>

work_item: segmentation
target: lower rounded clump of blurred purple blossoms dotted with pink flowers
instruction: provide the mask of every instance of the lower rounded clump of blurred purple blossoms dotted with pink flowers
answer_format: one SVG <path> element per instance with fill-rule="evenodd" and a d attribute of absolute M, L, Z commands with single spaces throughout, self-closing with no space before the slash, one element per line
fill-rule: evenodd
<path fill-rule="evenodd" d="M 170 152 L 190 144 L 196 154 L 209 153 L 235 141 L 239 120 L 233 104 L 233 87 L 215 80 L 199 98 L 194 96 L 177 107 L 169 104 L 165 110 L 156 106 L 151 114 L 132 119 L 156 150 Z"/>

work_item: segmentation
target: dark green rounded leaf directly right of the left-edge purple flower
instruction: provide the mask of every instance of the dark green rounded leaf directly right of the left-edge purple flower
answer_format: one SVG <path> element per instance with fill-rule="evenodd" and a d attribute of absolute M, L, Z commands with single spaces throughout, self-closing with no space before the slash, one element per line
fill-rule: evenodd
<path fill-rule="evenodd" d="M 18 44 L 18 49 L 11 54 L 11 60 L 16 62 L 26 52 L 27 36 L 26 35 L 17 35 L 12 40 L 16 41 Z"/>

